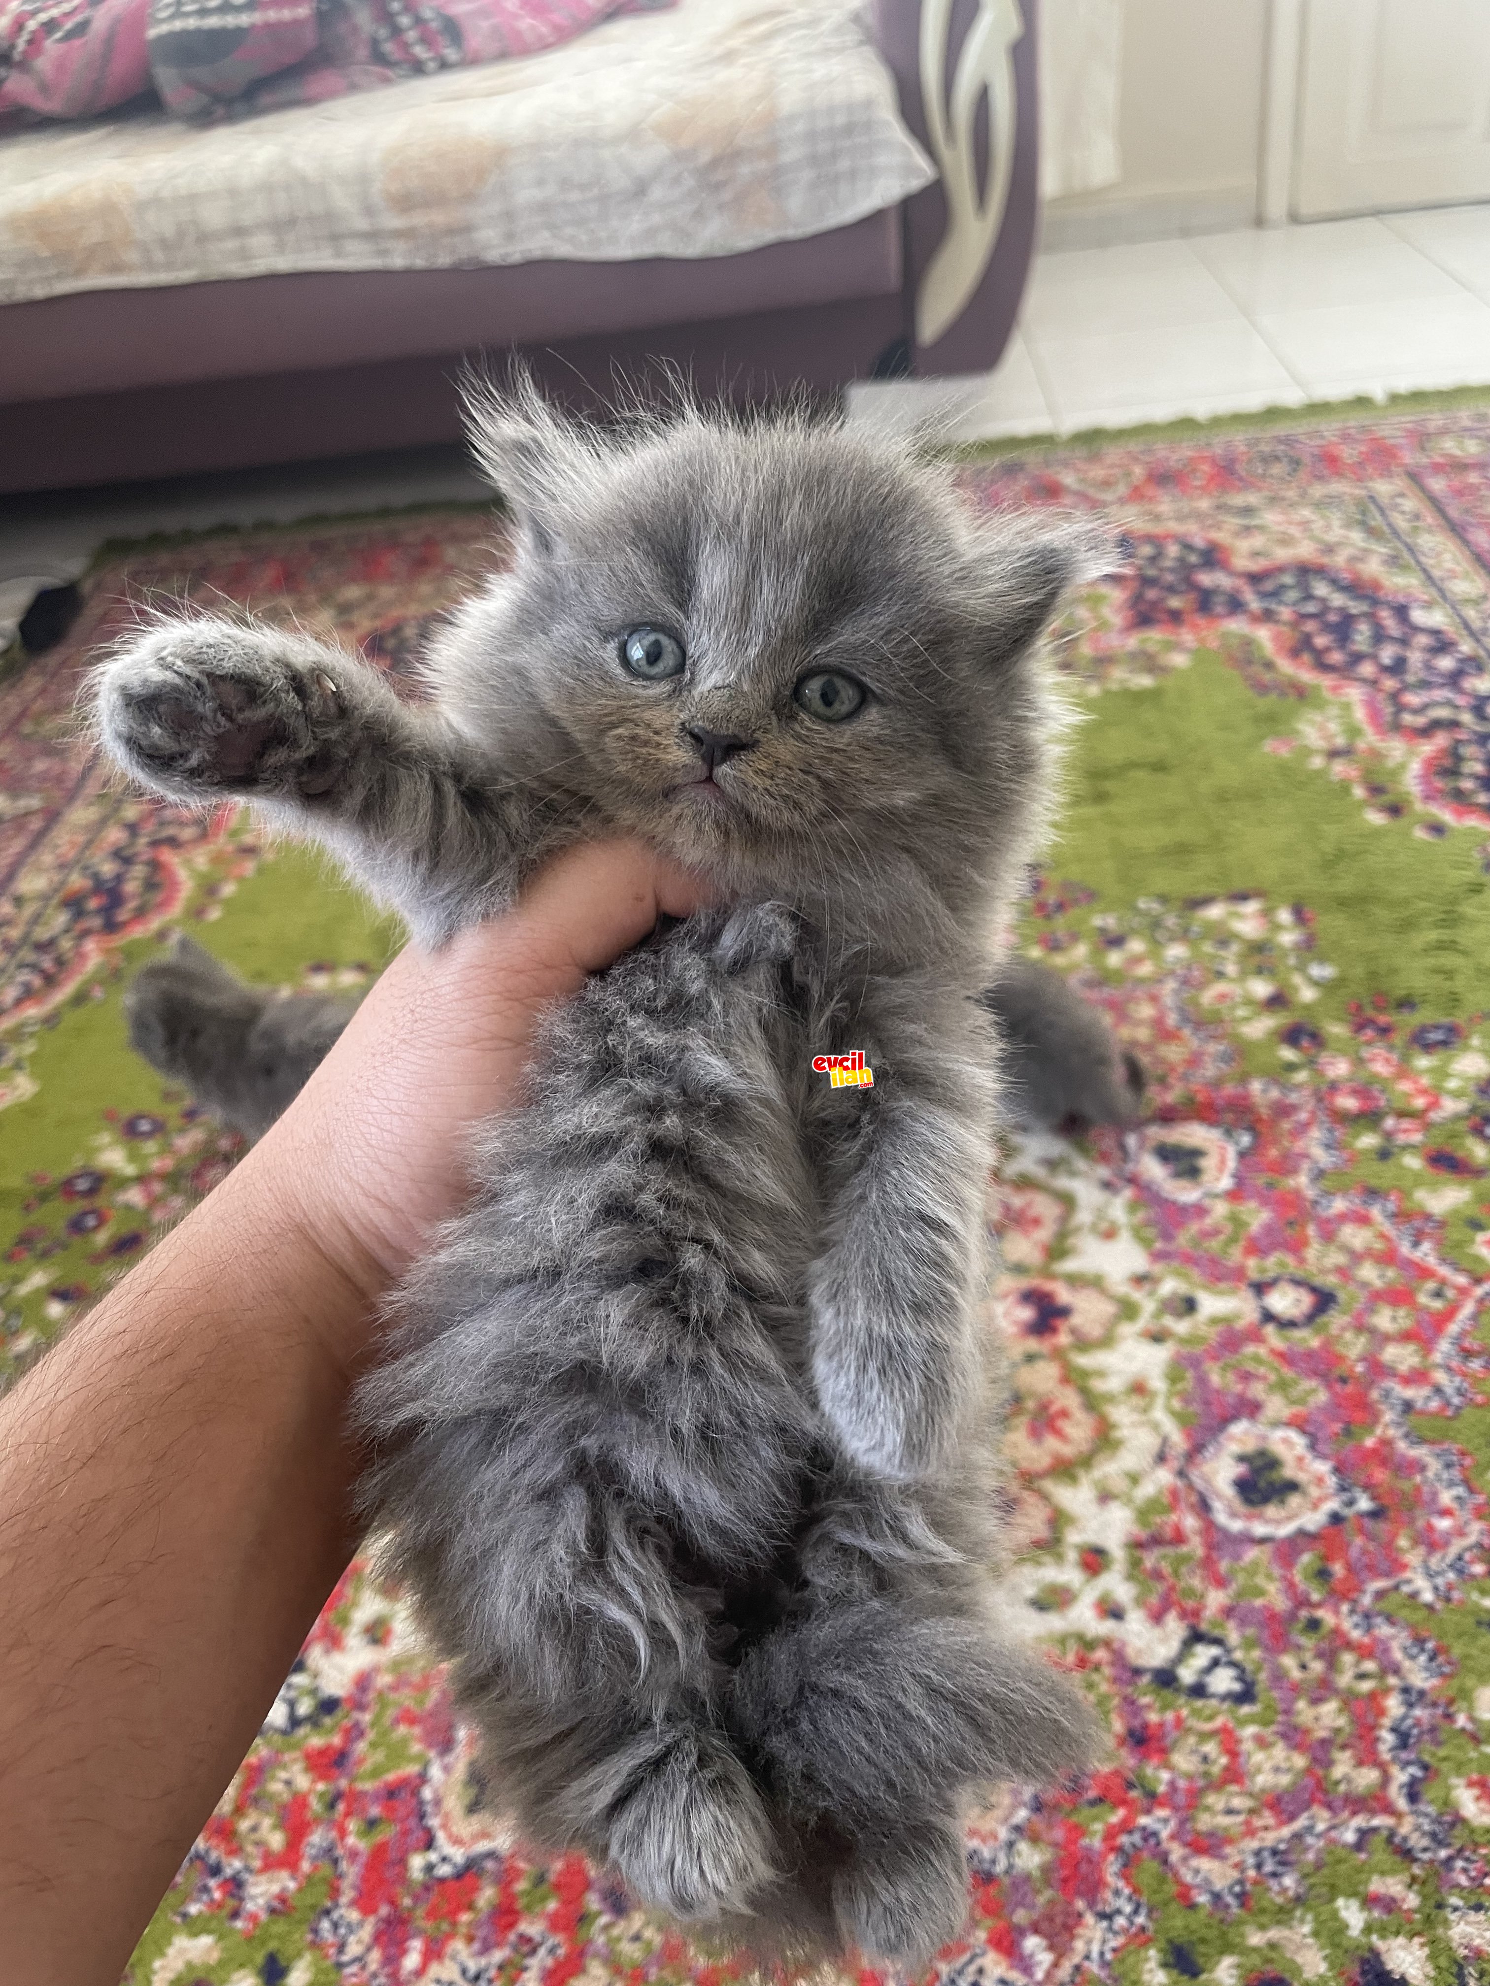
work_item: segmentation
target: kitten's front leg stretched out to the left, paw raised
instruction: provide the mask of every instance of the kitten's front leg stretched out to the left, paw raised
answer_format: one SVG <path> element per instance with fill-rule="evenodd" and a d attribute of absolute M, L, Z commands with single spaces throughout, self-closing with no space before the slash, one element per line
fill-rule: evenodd
<path fill-rule="evenodd" d="M 103 749 L 173 800 L 252 800 L 346 856 L 425 941 L 505 908 L 532 808 L 485 782 L 455 731 L 308 636 L 193 618 L 97 671 Z"/>

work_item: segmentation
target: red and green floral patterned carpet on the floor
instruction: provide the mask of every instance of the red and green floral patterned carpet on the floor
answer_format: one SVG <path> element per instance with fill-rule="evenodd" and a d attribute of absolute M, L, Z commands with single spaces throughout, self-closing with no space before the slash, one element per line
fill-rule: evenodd
<path fill-rule="evenodd" d="M 1015 1631 L 1111 1760 L 969 1837 L 946 1986 L 1490 1978 L 1490 411 L 968 467 L 1111 512 L 1073 614 L 1089 715 L 1023 941 L 1148 1064 L 1128 1138 L 989 1190 L 1013 1335 Z M 87 649 L 153 590 L 391 667 L 491 556 L 441 512 L 145 548 L 0 687 L 0 1317 L 24 1362 L 232 1140 L 131 1061 L 169 925 L 356 983 L 393 933 L 230 814 L 109 788 Z M 578 1859 L 475 1809 L 439 1668 L 352 1569 L 133 1986 L 725 1986 Z"/>

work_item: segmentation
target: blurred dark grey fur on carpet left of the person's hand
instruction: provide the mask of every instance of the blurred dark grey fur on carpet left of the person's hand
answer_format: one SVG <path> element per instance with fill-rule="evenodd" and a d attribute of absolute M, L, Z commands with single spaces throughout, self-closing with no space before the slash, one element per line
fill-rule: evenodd
<path fill-rule="evenodd" d="M 137 973 L 129 1045 L 230 1130 L 260 1138 L 328 1055 L 358 1001 L 264 993 L 189 937 Z"/>

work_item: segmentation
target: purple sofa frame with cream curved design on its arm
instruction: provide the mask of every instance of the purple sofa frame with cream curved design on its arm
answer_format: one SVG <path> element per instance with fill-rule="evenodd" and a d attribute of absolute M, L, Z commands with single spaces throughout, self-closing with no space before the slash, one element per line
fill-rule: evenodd
<path fill-rule="evenodd" d="M 707 260 L 312 272 L 4 306 L 0 493 L 453 441 L 461 361 L 509 352 L 568 399 L 656 361 L 755 399 L 981 371 L 1033 246 L 1035 10 L 874 0 L 902 115 L 944 177 L 826 234 Z M 960 66 L 993 77 L 971 117 Z"/>

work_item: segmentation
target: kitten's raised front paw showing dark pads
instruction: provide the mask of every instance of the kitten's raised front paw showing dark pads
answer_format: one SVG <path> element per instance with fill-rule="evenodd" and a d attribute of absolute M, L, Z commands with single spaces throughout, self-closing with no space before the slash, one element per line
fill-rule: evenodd
<path fill-rule="evenodd" d="M 219 620 L 153 628 L 99 671 L 105 751 L 189 800 L 328 792 L 350 755 L 348 699 L 324 665 L 286 651 L 292 641 Z"/>

